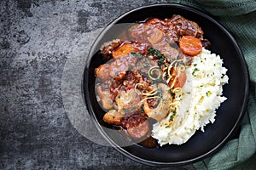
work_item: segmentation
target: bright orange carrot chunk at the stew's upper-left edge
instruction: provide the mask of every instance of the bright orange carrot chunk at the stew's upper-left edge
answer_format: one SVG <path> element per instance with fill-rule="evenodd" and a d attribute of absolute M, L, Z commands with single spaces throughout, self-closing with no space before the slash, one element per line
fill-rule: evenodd
<path fill-rule="evenodd" d="M 131 42 L 124 42 L 118 48 L 116 48 L 115 51 L 113 51 L 113 59 L 130 54 L 131 51 L 135 51 L 134 44 Z"/>

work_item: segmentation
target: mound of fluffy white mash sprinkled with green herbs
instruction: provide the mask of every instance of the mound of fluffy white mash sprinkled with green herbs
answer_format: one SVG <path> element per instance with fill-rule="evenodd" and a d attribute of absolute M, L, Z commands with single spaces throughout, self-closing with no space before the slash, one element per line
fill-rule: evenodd
<path fill-rule="evenodd" d="M 204 126 L 215 121 L 215 113 L 226 99 L 222 96 L 223 85 L 229 80 L 222 65 L 219 55 L 204 48 L 193 58 L 186 69 L 187 82 L 171 126 L 165 125 L 170 116 L 153 125 L 152 136 L 160 145 L 183 144 L 196 130 L 204 132 Z"/>

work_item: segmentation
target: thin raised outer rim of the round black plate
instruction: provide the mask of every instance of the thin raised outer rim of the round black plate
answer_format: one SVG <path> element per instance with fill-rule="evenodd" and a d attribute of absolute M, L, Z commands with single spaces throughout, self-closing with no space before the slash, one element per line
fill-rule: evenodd
<path fill-rule="evenodd" d="M 249 94 L 249 73 L 247 70 L 247 63 L 246 60 L 244 59 L 243 54 L 241 53 L 241 48 L 239 47 L 239 45 L 236 42 L 236 39 L 230 34 L 229 31 L 227 31 L 224 26 L 222 26 L 222 24 L 220 24 L 217 20 L 214 20 L 209 14 L 206 14 L 205 12 L 201 11 L 198 8 L 193 8 L 190 7 L 188 5 L 183 5 L 180 3 L 156 3 L 156 4 L 150 4 L 150 5 L 145 5 L 139 8 L 134 8 L 128 12 L 126 12 L 125 14 L 121 14 L 119 15 L 119 17 L 117 17 L 115 20 L 113 20 L 112 22 L 110 22 L 108 24 L 108 26 L 106 26 L 105 28 L 103 28 L 103 30 L 101 31 L 101 33 L 99 34 L 98 37 L 96 37 L 95 42 L 93 42 L 91 47 L 94 47 L 99 41 L 100 39 L 103 37 L 104 33 L 108 31 L 108 29 L 110 29 L 113 25 L 115 25 L 119 20 L 121 20 L 122 18 L 124 18 L 126 15 L 131 14 L 137 10 L 141 10 L 143 8 L 152 8 L 152 7 L 170 7 L 170 8 L 181 8 L 182 10 L 189 10 L 195 14 L 200 14 L 201 16 L 207 18 L 207 20 L 211 20 L 211 22 L 213 22 L 215 25 L 217 25 L 222 31 L 224 31 L 224 33 L 230 37 L 231 41 L 233 42 L 234 47 L 237 50 L 237 53 L 240 55 L 240 59 L 241 59 L 241 67 L 242 70 L 244 71 L 244 76 L 245 76 L 245 89 L 244 89 L 244 94 L 245 97 L 243 99 L 243 105 L 241 106 L 241 112 L 239 115 L 239 118 L 236 121 L 236 124 L 234 127 L 232 127 L 232 129 L 230 130 L 230 133 L 223 139 L 222 142 L 220 142 L 218 145 L 216 145 L 212 150 L 209 150 L 208 152 L 206 152 L 205 154 L 201 155 L 201 156 L 197 156 L 193 159 L 189 159 L 189 160 L 185 160 L 185 161 L 172 161 L 172 162 L 160 162 L 160 161 L 148 161 L 145 160 L 143 158 L 140 158 L 138 156 L 134 156 L 131 153 L 129 153 L 127 150 L 123 149 L 122 147 L 119 147 L 119 145 L 115 144 L 113 142 L 112 139 L 110 139 L 108 137 L 108 134 L 104 132 L 104 130 L 102 129 L 102 127 L 99 125 L 99 122 L 96 119 L 96 116 L 94 114 L 94 111 L 92 109 L 92 105 L 90 105 L 90 97 L 89 97 L 89 88 L 88 88 L 88 77 L 86 77 L 86 75 L 88 75 L 88 64 L 90 63 L 90 59 L 92 57 L 92 49 L 90 49 L 90 52 L 88 54 L 88 58 L 86 59 L 86 66 L 84 68 L 84 75 L 83 75 L 83 80 L 82 80 L 82 95 L 84 95 L 84 103 L 87 106 L 87 109 L 89 111 L 90 116 L 92 116 L 93 121 L 96 125 L 97 130 L 102 134 L 102 136 L 107 139 L 108 143 L 111 144 L 111 146 L 113 146 L 114 149 L 118 150 L 121 154 L 123 154 L 124 156 L 129 157 L 131 160 L 143 163 L 145 165 L 148 166 L 154 166 L 154 167 L 167 167 L 167 166 L 182 166 L 182 165 L 186 165 L 186 164 L 190 164 L 190 163 L 194 163 L 196 161 L 201 161 L 204 158 L 207 158 L 209 156 L 212 156 L 213 154 L 215 154 L 216 152 L 218 152 L 218 150 L 220 150 L 221 146 L 223 146 L 223 144 L 230 139 L 230 137 L 232 137 L 232 135 L 236 132 L 236 130 L 239 128 L 239 125 L 241 124 L 241 120 L 242 117 L 245 114 L 245 111 L 247 109 L 247 101 L 248 101 L 248 94 Z"/>

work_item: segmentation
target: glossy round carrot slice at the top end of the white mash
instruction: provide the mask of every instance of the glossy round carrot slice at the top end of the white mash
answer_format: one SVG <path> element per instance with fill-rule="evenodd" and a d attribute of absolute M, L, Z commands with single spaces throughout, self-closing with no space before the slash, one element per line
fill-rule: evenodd
<path fill-rule="evenodd" d="M 183 36 L 179 41 L 179 48 L 183 54 L 195 56 L 201 53 L 202 44 L 200 39 L 192 36 Z"/>

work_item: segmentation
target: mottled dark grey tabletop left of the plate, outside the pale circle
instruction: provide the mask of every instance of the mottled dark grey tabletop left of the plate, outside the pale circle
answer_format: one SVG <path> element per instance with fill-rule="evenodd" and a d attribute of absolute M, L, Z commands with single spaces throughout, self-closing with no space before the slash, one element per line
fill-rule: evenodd
<path fill-rule="evenodd" d="M 84 138 L 61 97 L 63 69 L 81 38 L 152 3 L 0 1 L 0 169 L 156 169 Z"/>

